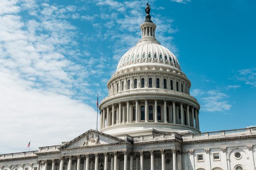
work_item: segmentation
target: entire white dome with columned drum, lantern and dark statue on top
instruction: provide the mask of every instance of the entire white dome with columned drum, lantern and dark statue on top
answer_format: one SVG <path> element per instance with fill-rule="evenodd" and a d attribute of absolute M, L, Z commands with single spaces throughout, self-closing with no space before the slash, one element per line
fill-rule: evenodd
<path fill-rule="evenodd" d="M 100 130 L 113 136 L 152 133 L 198 133 L 198 101 L 191 82 L 167 48 L 155 38 L 150 6 L 140 25 L 141 39 L 120 59 L 102 99 Z"/>

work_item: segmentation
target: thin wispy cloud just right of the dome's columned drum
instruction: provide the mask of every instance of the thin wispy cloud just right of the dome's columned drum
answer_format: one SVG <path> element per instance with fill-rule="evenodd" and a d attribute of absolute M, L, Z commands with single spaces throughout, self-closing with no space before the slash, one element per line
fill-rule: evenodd
<path fill-rule="evenodd" d="M 232 107 L 225 100 L 228 96 L 217 90 L 203 91 L 201 89 L 194 89 L 190 94 L 198 99 L 202 111 L 225 112 L 229 111 Z"/>

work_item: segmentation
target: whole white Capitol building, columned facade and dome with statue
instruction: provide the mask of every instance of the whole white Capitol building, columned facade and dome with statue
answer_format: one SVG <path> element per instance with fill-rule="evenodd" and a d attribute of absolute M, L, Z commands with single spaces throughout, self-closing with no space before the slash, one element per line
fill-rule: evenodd
<path fill-rule="evenodd" d="M 191 82 L 145 12 L 141 39 L 107 83 L 99 131 L 2 154 L 0 170 L 256 170 L 256 127 L 200 131 Z"/>

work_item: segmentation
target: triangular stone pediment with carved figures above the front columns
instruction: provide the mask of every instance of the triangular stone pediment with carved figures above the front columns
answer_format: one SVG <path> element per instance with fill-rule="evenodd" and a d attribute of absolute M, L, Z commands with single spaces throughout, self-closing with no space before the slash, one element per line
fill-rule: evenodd
<path fill-rule="evenodd" d="M 79 147 L 90 147 L 90 146 L 100 146 L 106 144 L 115 144 L 115 143 L 126 143 L 127 141 L 119 139 L 115 136 L 111 136 L 96 130 L 88 130 L 87 132 L 77 136 L 75 139 L 67 142 L 59 149 L 70 149 L 70 148 L 79 148 Z"/>

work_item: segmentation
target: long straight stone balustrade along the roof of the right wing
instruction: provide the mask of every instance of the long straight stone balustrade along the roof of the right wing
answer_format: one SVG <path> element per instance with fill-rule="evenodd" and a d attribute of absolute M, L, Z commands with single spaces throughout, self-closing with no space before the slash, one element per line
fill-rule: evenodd
<path fill-rule="evenodd" d="M 222 130 L 216 132 L 206 132 L 206 133 L 197 133 L 183 135 L 183 142 L 192 141 L 192 140 L 201 140 L 201 139 L 212 139 L 212 138 L 221 138 L 221 137 L 232 137 L 232 136 L 247 136 L 251 134 L 256 134 L 256 127 L 244 128 L 244 129 L 234 129 L 234 130 Z"/>

